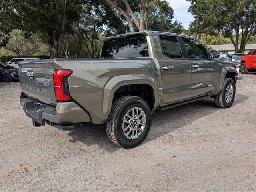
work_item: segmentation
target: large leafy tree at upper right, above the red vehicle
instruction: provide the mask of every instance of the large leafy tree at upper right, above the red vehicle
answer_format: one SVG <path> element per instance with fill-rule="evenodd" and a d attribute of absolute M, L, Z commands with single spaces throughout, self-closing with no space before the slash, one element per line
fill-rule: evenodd
<path fill-rule="evenodd" d="M 255 0 L 187 0 L 189 12 L 195 20 L 190 24 L 192 33 L 223 33 L 230 38 L 236 52 L 244 53 L 246 43 L 256 33 Z M 239 48 L 239 32 L 242 32 Z M 232 34 L 235 34 L 233 36 Z"/>

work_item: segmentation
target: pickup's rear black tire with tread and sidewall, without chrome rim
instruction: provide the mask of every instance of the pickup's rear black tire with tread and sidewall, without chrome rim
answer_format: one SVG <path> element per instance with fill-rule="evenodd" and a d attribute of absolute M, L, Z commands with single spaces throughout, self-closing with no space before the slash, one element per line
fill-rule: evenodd
<path fill-rule="evenodd" d="M 123 119 L 127 112 L 134 107 L 141 108 L 146 116 L 144 131 L 136 139 L 129 139 L 123 132 Z M 146 101 L 136 96 L 124 96 L 114 102 L 106 121 L 108 138 L 116 145 L 124 148 L 132 148 L 144 141 L 151 126 L 151 110 Z M 132 128 L 128 128 L 129 130 Z M 132 131 L 133 133 L 133 131 Z M 138 132 L 137 132 L 138 134 Z"/>

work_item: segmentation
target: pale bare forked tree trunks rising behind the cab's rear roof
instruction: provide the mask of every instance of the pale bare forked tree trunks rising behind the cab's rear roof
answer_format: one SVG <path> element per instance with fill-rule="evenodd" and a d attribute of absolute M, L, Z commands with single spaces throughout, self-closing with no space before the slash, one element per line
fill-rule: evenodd
<path fill-rule="evenodd" d="M 138 5 L 133 1 L 128 2 L 128 0 L 105 0 L 110 6 L 118 10 L 120 14 L 124 16 L 128 22 L 130 31 L 134 32 L 133 23 L 136 25 L 139 31 L 144 31 L 147 29 L 148 23 L 148 2 L 146 0 L 139 0 L 140 2 L 140 12 L 138 10 Z M 136 9 L 132 10 L 134 6 Z"/>

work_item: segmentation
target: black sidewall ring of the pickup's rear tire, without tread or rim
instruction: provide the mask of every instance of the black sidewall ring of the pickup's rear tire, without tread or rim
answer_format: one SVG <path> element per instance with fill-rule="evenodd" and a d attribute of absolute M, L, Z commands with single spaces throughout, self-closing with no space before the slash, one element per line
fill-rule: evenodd
<path fill-rule="evenodd" d="M 126 136 L 124 135 L 122 130 L 122 122 L 124 115 L 128 112 L 128 110 L 130 110 L 133 107 L 140 107 L 142 108 L 142 110 L 144 110 L 146 114 L 146 126 L 144 132 L 138 138 L 131 140 L 126 138 Z M 132 148 L 143 142 L 146 136 L 148 135 L 151 126 L 151 111 L 148 104 L 140 98 L 132 98 L 131 100 L 126 102 L 126 104 L 124 104 L 122 108 L 120 108 L 118 114 L 120 115 L 118 115 L 118 119 L 115 125 L 115 135 L 116 138 L 118 138 L 118 143 L 125 148 Z"/>

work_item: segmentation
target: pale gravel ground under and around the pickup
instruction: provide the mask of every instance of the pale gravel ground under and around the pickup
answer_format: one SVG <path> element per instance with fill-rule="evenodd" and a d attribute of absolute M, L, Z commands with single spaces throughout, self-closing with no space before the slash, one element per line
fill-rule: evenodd
<path fill-rule="evenodd" d="M 208 98 L 156 112 L 129 150 L 102 125 L 33 127 L 19 96 L 18 82 L 0 83 L 1 191 L 256 190 L 256 74 L 241 75 L 228 109 Z"/>

